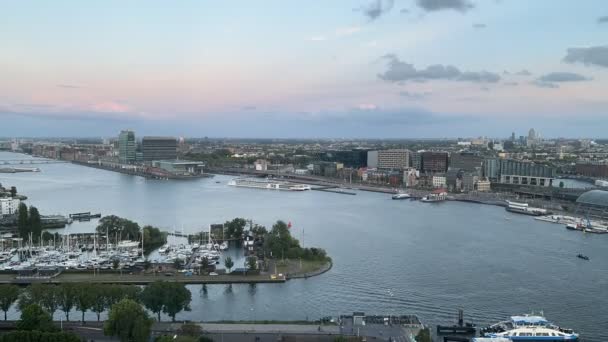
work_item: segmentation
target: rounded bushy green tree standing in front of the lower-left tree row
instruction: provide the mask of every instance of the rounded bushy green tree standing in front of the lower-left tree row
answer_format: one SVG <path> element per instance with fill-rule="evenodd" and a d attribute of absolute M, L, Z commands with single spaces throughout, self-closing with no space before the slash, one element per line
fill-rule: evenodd
<path fill-rule="evenodd" d="M 150 339 L 153 320 L 148 313 L 130 299 L 114 304 L 104 323 L 104 334 L 115 336 L 122 342 L 145 342 Z"/>

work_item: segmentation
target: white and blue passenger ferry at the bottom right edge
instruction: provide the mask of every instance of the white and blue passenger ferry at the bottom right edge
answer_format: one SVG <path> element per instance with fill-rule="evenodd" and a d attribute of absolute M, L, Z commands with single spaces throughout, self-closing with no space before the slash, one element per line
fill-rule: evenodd
<path fill-rule="evenodd" d="M 571 329 L 553 325 L 543 316 L 511 316 L 509 321 L 499 322 L 481 330 L 483 338 L 473 342 L 527 341 L 557 342 L 578 341 L 578 334 Z"/>

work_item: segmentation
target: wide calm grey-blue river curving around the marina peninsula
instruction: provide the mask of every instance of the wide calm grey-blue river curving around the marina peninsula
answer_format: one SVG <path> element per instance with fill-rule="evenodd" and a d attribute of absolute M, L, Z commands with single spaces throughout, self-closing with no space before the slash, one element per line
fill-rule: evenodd
<path fill-rule="evenodd" d="M 0 159 L 16 157 L 27 158 L 0 152 Z M 17 186 L 45 214 L 101 212 L 184 231 L 234 217 L 267 226 L 283 219 L 304 245 L 334 259 L 322 276 L 281 285 L 191 286 L 192 311 L 178 319 L 314 319 L 361 310 L 414 313 L 435 324 L 454 321 L 463 308 L 483 325 L 544 310 L 584 341 L 608 341 L 608 236 L 492 206 L 242 189 L 227 186 L 225 176 L 156 181 L 70 164 L 39 167 L 0 174 L 0 182 Z"/>

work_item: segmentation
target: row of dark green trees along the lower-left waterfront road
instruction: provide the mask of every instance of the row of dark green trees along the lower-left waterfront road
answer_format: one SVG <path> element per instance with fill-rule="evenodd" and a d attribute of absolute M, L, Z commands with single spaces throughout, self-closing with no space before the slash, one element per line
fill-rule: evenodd
<path fill-rule="evenodd" d="M 63 312 L 66 321 L 70 320 L 70 312 L 80 311 L 83 323 L 85 313 L 91 311 L 99 321 L 101 313 L 123 299 L 143 305 L 157 314 L 159 321 L 161 312 L 175 321 L 178 313 L 190 311 L 192 294 L 184 284 L 164 281 L 143 288 L 100 283 L 33 284 L 23 289 L 16 285 L 0 285 L 0 310 L 4 312 L 5 320 L 7 312 L 16 303 L 21 312 L 31 305 L 41 307 L 51 317 L 57 311 Z"/>

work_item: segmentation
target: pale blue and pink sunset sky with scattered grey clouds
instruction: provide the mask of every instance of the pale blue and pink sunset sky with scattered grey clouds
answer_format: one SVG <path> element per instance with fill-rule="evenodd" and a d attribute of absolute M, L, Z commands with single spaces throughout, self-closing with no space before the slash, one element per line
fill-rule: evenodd
<path fill-rule="evenodd" d="M 7 0 L 0 23 L 0 136 L 608 136 L 605 0 Z"/>

